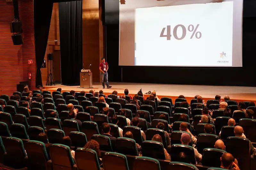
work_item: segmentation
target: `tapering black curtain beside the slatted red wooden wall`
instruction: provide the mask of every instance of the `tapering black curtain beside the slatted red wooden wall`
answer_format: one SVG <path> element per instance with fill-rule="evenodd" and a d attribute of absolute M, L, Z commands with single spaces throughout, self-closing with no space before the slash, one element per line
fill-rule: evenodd
<path fill-rule="evenodd" d="M 52 11 L 53 2 L 34 0 L 35 52 L 37 63 L 36 86 L 43 86 L 40 69 L 45 57 Z"/>

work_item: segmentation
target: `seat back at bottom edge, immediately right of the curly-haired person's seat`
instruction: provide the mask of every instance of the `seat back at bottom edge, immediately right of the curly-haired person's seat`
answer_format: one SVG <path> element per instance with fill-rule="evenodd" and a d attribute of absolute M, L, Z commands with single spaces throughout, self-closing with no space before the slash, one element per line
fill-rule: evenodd
<path fill-rule="evenodd" d="M 113 163 L 114 162 L 114 163 Z M 129 170 L 127 158 L 121 153 L 107 152 L 102 159 L 104 169 Z"/>

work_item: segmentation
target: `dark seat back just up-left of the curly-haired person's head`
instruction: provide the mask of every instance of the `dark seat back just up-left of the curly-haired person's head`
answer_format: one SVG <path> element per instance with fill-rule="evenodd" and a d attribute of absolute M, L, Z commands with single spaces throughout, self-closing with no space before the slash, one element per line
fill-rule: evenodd
<path fill-rule="evenodd" d="M 86 135 L 83 132 L 72 131 L 69 133 L 71 144 L 75 148 L 83 148 L 87 143 Z"/>

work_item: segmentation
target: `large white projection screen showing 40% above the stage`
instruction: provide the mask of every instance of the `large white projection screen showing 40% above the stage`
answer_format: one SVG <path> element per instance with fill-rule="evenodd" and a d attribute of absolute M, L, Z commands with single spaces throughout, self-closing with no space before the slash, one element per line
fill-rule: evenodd
<path fill-rule="evenodd" d="M 125 0 L 119 65 L 242 67 L 243 0 Z"/>

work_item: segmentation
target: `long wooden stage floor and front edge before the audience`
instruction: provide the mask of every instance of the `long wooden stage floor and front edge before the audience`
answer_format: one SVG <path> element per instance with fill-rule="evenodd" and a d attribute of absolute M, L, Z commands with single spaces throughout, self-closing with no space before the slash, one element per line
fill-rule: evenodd
<path fill-rule="evenodd" d="M 194 99 L 195 95 L 203 97 L 204 101 L 214 99 L 215 95 L 220 95 L 223 99 L 224 95 L 228 95 L 231 100 L 236 101 L 254 101 L 256 102 L 256 87 L 238 87 L 238 86 L 211 86 L 211 85 L 169 85 L 169 84 L 145 84 L 145 83 L 109 83 L 111 89 L 103 89 L 101 83 L 94 82 L 93 88 L 81 88 L 80 86 L 65 86 L 65 85 L 52 85 L 44 86 L 45 90 L 51 92 L 56 91 L 57 88 L 62 88 L 62 92 L 74 90 L 76 92 L 94 89 L 96 92 L 103 90 L 104 94 L 111 94 L 114 90 L 119 95 L 124 93 L 124 89 L 129 90 L 129 94 L 134 96 L 141 88 L 145 94 L 148 91 L 156 91 L 156 95 L 161 97 L 171 97 L 172 100 L 178 98 L 179 95 L 184 95 L 188 102 Z M 149 94 L 145 94 L 145 97 Z"/>

